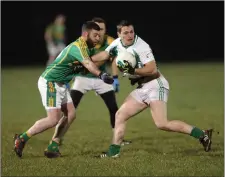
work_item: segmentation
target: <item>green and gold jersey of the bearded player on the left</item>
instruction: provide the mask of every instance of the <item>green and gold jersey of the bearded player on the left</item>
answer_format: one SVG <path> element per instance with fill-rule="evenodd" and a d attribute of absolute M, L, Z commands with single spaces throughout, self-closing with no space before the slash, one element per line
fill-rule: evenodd
<path fill-rule="evenodd" d="M 69 83 L 75 76 L 74 65 L 89 58 L 92 53 L 93 50 L 88 49 L 87 43 L 80 37 L 63 49 L 41 76 L 47 81 Z"/>

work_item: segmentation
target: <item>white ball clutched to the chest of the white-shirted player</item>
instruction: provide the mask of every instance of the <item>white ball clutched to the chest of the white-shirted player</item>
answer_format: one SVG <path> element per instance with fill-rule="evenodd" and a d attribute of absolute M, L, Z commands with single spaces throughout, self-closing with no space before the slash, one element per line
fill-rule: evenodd
<path fill-rule="evenodd" d="M 134 68 L 137 64 L 137 61 L 135 59 L 135 56 L 130 53 L 130 52 L 127 52 L 127 51 L 122 51 L 118 54 L 118 56 L 116 57 L 116 65 L 124 65 L 124 62 L 123 60 L 125 61 L 128 61 L 130 63 L 130 65 Z"/>

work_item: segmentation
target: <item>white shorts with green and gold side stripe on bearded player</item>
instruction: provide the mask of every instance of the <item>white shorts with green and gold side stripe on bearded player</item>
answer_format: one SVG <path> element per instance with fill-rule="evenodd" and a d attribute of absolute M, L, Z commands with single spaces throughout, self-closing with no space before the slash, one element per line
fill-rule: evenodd
<path fill-rule="evenodd" d="M 65 84 L 59 85 L 40 77 L 38 89 L 45 109 L 60 109 L 61 105 L 72 102 L 68 88 Z"/>

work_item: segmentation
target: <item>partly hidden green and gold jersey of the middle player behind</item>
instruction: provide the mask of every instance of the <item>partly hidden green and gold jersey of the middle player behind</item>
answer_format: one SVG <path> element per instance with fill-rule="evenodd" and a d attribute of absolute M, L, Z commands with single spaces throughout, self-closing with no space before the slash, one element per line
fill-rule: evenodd
<path fill-rule="evenodd" d="M 98 52 L 104 51 L 113 41 L 114 41 L 113 37 L 105 35 L 103 43 L 95 46 L 95 48 L 93 49 L 92 55 L 97 54 Z M 106 63 L 104 63 L 102 66 L 100 66 L 99 70 L 105 72 L 106 71 Z M 85 75 L 77 74 L 76 76 L 96 77 L 94 74 L 92 74 L 90 72 Z"/>

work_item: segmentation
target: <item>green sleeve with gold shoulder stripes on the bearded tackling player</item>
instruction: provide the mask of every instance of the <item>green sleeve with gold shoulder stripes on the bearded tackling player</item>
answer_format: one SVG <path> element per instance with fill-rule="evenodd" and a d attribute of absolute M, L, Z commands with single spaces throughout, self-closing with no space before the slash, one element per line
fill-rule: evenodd
<path fill-rule="evenodd" d="M 89 58 L 88 48 L 75 42 L 70 48 L 70 55 L 82 62 L 84 59 Z"/>

